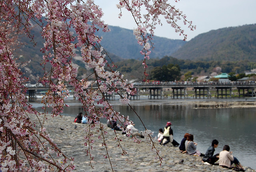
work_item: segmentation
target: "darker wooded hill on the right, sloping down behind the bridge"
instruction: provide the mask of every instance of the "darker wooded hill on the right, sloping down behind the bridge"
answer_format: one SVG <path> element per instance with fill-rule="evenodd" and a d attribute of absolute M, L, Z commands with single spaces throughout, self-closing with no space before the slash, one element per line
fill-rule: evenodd
<path fill-rule="evenodd" d="M 172 53 L 177 59 L 256 61 L 256 24 L 202 33 Z"/>

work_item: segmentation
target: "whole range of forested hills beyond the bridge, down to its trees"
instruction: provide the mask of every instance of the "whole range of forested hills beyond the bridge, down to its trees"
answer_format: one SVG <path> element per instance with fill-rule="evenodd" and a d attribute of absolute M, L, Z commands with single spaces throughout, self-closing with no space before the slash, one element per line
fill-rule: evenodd
<path fill-rule="evenodd" d="M 120 73 L 129 79 L 141 80 L 144 78 L 144 68 L 141 65 L 143 56 L 139 53 L 142 47 L 137 44 L 133 31 L 114 26 L 110 26 L 110 29 L 112 31 L 109 33 L 99 33 L 104 38 L 101 45 L 110 58 L 117 62 Z M 21 44 L 14 54 L 21 63 L 30 61 L 22 68 L 22 72 L 32 83 L 38 82 L 39 76 L 44 72 L 40 66 L 43 55 L 40 48 L 44 41 L 38 31 L 38 27 L 32 29 L 37 47 L 33 47 L 28 38 L 21 37 L 20 42 L 26 44 Z M 256 24 L 212 30 L 188 42 L 156 36 L 153 42 L 156 48 L 150 55 L 151 59 L 147 61 L 148 72 L 156 66 L 169 63 L 179 65 L 182 73 L 191 70 L 196 74 L 209 74 L 215 67 L 220 67 L 222 72 L 227 73 L 256 67 L 252 63 L 256 62 Z M 78 67 L 78 76 L 83 78 L 92 71 L 82 61 L 79 51 L 76 52 L 78 56 L 74 57 L 73 65 Z"/>

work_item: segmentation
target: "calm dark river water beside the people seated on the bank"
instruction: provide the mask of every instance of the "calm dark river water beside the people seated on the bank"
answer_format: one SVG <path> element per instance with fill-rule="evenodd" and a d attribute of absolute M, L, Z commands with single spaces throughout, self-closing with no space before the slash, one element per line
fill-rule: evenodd
<path fill-rule="evenodd" d="M 116 111 L 128 115 L 139 130 L 144 130 L 142 123 L 129 106 L 114 105 Z M 197 149 L 205 153 L 213 139 L 219 141 L 216 153 L 224 145 L 244 166 L 256 169 L 256 108 L 202 108 L 196 104 L 141 104 L 132 105 L 140 115 L 147 129 L 158 134 L 167 121 L 172 122 L 174 139 L 180 143 L 185 133 L 194 135 Z M 63 115 L 76 116 L 82 111 L 79 104 L 70 104 Z M 103 121 L 104 122 L 104 121 Z"/>

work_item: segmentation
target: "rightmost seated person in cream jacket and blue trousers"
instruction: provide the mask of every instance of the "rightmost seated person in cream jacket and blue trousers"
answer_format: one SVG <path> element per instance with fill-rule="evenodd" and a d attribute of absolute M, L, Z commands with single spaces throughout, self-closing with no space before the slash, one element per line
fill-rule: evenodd
<path fill-rule="evenodd" d="M 240 171 L 245 171 L 241 163 L 238 161 L 236 157 L 232 155 L 232 151 L 229 152 L 230 147 L 228 145 L 224 145 L 223 151 L 220 152 L 220 158 L 219 158 L 219 166 L 222 166 L 224 168 L 231 168 L 231 165 L 234 163 L 238 168 L 240 168 Z"/>

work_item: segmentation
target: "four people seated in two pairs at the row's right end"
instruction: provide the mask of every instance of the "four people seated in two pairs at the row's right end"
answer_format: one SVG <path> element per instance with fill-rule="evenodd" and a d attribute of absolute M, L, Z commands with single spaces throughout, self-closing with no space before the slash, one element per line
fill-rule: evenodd
<path fill-rule="evenodd" d="M 237 167 L 234 168 L 234 170 L 245 171 L 238 159 L 232 155 L 232 151 L 229 152 L 230 147 L 228 145 L 224 145 L 223 150 L 219 154 L 214 154 L 215 148 L 218 147 L 219 144 L 219 142 L 214 139 L 212 141 L 212 145 L 206 150 L 206 153 L 202 154 L 196 149 L 197 143 L 195 143 L 193 140 L 194 136 L 186 133 L 180 143 L 180 152 L 190 155 L 203 156 L 203 162 L 207 162 L 209 164 L 217 165 L 216 161 L 218 161 L 218 165 L 224 168 L 232 169 L 231 165 L 234 163 Z"/>

